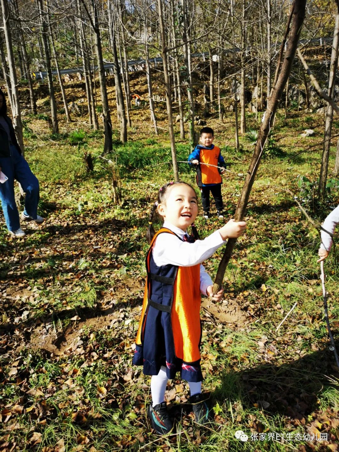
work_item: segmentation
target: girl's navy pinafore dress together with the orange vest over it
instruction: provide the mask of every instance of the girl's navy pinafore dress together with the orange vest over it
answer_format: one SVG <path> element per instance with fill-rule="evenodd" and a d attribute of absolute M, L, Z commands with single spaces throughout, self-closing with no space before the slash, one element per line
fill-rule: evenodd
<path fill-rule="evenodd" d="M 143 366 L 145 375 L 158 375 L 160 367 L 166 366 L 169 379 L 180 372 L 184 380 L 202 381 L 200 264 L 156 265 L 152 247 L 164 233 L 176 235 L 161 228 L 146 256 L 147 278 L 133 364 Z"/>

